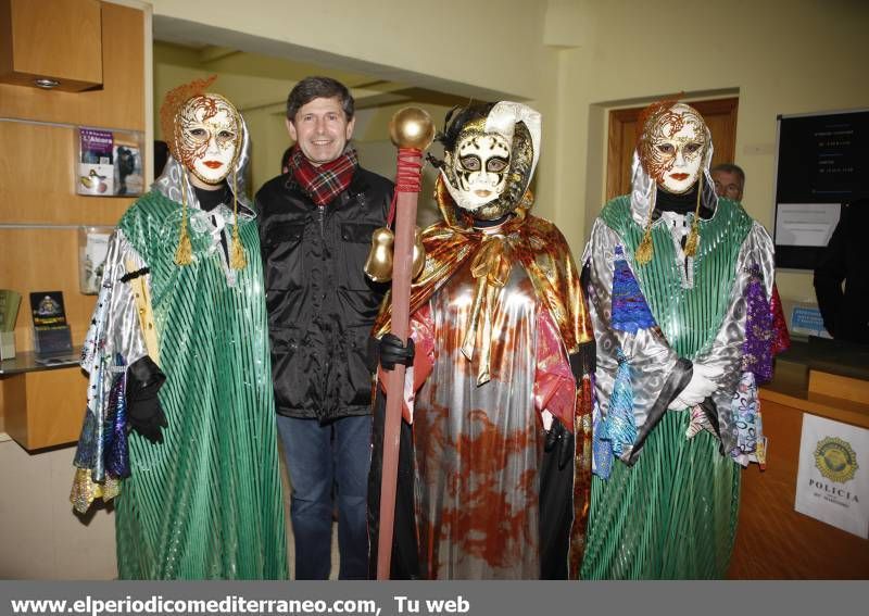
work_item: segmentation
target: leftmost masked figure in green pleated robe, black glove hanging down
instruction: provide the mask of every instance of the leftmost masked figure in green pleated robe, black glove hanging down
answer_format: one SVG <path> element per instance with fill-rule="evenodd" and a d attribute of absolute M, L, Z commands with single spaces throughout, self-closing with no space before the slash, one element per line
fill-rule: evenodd
<path fill-rule="evenodd" d="M 114 499 L 122 579 L 286 579 L 249 138 L 236 108 L 169 92 L 171 158 L 110 241 L 83 349 L 71 500 Z"/>

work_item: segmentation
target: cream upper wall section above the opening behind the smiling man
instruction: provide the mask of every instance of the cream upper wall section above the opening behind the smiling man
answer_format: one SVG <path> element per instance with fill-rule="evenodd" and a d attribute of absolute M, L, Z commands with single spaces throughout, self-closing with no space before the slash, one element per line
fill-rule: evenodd
<path fill-rule="evenodd" d="M 527 0 L 152 0 L 154 21 L 219 28 L 245 51 L 419 87 L 534 98 L 540 91 L 545 2 Z M 179 24 L 193 32 L 191 24 Z M 251 41 L 248 37 L 256 37 Z M 259 49 L 250 49 L 251 45 Z M 452 84 L 465 91 L 449 87 Z"/>

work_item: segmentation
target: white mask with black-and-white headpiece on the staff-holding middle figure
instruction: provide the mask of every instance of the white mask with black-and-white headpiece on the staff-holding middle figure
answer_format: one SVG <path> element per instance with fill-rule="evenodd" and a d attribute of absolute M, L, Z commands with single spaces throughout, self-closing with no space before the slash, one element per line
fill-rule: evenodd
<path fill-rule="evenodd" d="M 540 114 L 514 102 L 496 103 L 459 128 L 444 151 L 441 173 L 456 205 L 480 221 L 515 210 L 528 189 L 540 147 Z"/>

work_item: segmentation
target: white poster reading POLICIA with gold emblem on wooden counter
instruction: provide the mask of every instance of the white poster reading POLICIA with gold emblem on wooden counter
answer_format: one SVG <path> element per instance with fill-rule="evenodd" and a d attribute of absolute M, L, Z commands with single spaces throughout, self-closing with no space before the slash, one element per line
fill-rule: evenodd
<path fill-rule="evenodd" d="M 803 414 L 794 508 L 869 539 L 869 430 Z"/>

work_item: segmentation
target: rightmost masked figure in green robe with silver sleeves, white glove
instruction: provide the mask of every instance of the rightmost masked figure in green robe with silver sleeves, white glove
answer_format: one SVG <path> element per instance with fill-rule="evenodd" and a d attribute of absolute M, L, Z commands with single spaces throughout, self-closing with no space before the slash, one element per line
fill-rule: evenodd
<path fill-rule="evenodd" d="M 709 176 L 703 117 L 643 114 L 631 194 L 604 205 L 583 255 L 597 340 L 582 575 L 720 578 L 740 465 L 765 461 L 757 385 L 786 345 L 772 242 Z"/>

